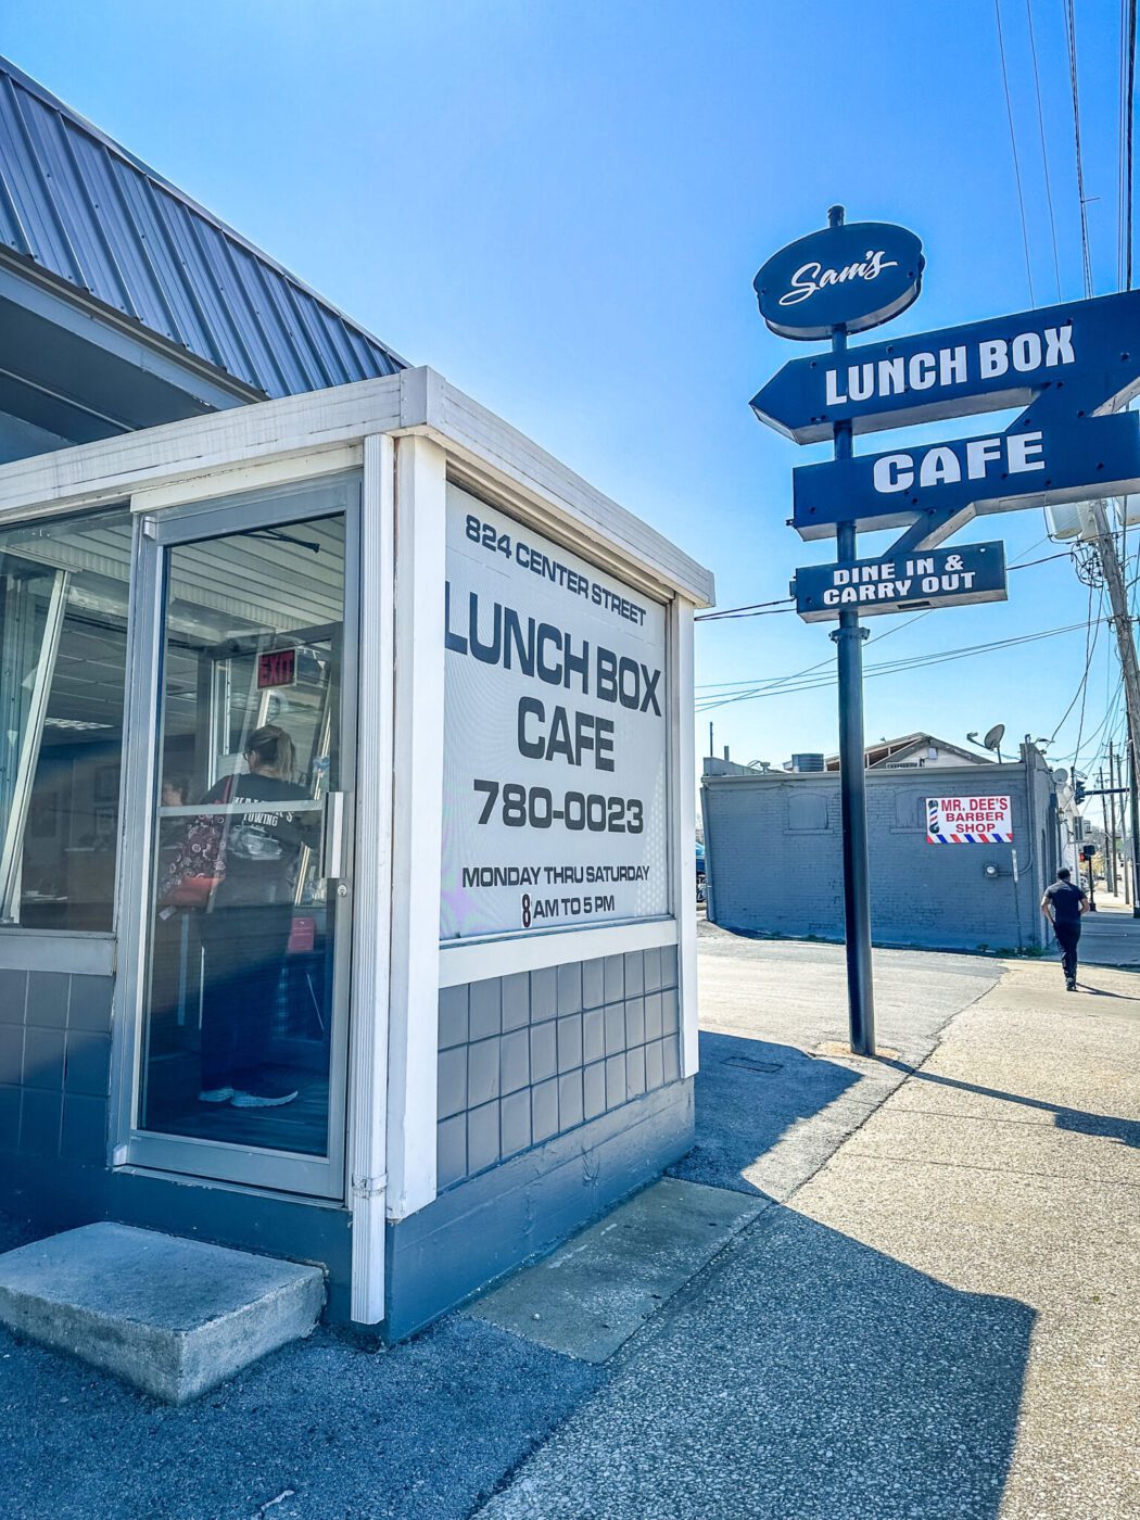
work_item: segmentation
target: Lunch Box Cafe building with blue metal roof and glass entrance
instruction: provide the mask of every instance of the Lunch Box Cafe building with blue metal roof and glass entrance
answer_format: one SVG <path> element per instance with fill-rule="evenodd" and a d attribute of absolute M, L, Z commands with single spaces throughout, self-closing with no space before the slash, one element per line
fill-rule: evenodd
<path fill-rule="evenodd" d="M 0 1207 L 412 1333 L 684 1154 L 711 576 L 0 65 Z"/>

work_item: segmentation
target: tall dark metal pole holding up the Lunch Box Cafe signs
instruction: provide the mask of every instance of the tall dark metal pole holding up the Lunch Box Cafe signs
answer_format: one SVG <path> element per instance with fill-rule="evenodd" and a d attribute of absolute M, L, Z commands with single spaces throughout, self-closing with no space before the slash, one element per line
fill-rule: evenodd
<path fill-rule="evenodd" d="M 844 208 L 827 213 L 830 226 L 844 225 Z M 847 328 L 831 334 L 831 353 L 847 353 Z M 833 429 L 834 458 L 853 453 L 851 424 Z M 857 559 L 856 524 L 836 524 L 836 561 Z M 839 675 L 839 815 L 844 830 L 844 926 L 847 935 L 847 1008 L 854 1055 L 876 1053 L 876 1005 L 871 980 L 871 892 L 866 853 L 866 771 L 863 742 L 863 640 L 854 605 L 841 606 L 836 643 Z"/>

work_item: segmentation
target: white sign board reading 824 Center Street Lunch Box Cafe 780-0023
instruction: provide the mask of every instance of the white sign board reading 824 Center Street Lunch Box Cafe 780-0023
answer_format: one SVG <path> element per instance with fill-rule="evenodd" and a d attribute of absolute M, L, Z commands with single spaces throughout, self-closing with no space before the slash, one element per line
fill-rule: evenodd
<path fill-rule="evenodd" d="M 666 610 L 447 488 L 439 938 L 669 912 Z"/>

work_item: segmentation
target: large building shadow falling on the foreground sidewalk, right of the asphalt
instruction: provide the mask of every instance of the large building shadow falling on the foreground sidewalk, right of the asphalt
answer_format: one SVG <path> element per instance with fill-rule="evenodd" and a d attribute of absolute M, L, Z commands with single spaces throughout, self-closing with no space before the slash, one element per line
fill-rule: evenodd
<path fill-rule="evenodd" d="M 488 1520 L 996 1520 L 1035 1318 L 774 1204 Z"/>

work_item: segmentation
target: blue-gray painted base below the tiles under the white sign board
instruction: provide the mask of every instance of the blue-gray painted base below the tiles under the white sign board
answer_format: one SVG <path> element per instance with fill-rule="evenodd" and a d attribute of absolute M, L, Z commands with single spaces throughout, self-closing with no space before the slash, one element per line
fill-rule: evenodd
<path fill-rule="evenodd" d="M 474 1176 L 388 1230 L 388 1315 L 401 1341 L 654 1181 L 693 1145 L 693 1082 Z"/>

